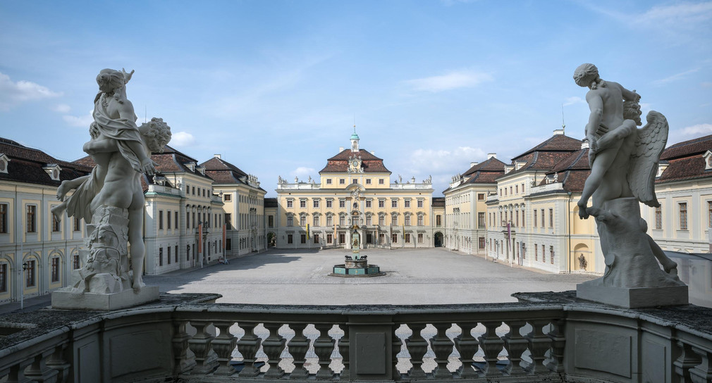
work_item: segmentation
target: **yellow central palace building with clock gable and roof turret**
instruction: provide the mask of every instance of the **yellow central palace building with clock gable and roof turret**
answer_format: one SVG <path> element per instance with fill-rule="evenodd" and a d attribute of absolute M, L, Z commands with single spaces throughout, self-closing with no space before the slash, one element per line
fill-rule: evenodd
<path fill-rule="evenodd" d="M 392 180 L 382 158 L 360 149 L 356 133 L 350 141 L 327 160 L 320 180 L 279 178 L 276 247 L 349 247 L 355 225 L 362 247 L 434 247 L 444 210 L 433 206 L 431 180 Z"/>

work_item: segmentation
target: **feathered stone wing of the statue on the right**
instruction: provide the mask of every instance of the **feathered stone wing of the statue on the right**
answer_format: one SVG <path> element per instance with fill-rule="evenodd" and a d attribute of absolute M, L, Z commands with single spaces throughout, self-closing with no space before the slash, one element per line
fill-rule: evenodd
<path fill-rule="evenodd" d="M 648 123 L 637 130 L 638 137 L 630 155 L 628 185 L 640 202 L 658 207 L 660 203 L 655 196 L 655 174 L 667 143 L 669 126 L 665 116 L 654 110 L 648 112 L 645 119 Z"/>

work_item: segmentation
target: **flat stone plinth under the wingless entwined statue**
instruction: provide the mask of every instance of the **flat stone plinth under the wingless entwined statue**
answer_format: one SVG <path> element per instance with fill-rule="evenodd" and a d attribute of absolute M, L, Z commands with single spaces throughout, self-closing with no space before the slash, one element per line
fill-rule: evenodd
<path fill-rule="evenodd" d="M 73 292 L 71 287 L 66 287 L 52 292 L 52 308 L 108 311 L 138 306 L 158 299 L 158 286 L 144 286 L 139 293 L 128 289 L 110 294 Z"/>

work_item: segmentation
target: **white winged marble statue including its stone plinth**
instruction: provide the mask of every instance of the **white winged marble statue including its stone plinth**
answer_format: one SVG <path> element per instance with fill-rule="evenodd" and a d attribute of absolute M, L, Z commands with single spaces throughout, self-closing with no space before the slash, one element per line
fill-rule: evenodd
<path fill-rule="evenodd" d="M 646 234 L 640 216 L 639 201 L 659 206 L 655 175 L 667 141 L 667 120 L 651 111 L 647 124 L 638 129 L 640 95 L 602 80 L 595 65 L 580 65 L 574 80 L 589 89 L 591 111 L 585 127 L 591 173 L 577 203 L 578 215 L 595 217 L 606 264 L 601 278 L 577 286 L 577 296 L 629 308 L 688 303 L 677 264 Z"/>

